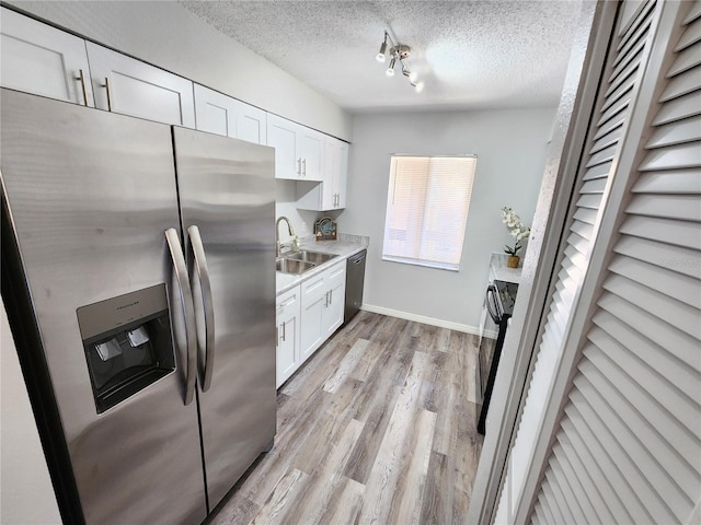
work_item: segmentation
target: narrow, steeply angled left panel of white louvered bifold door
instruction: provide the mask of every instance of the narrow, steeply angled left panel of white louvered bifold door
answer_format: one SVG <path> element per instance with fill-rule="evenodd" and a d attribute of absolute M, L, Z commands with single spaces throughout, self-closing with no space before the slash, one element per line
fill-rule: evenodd
<path fill-rule="evenodd" d="M 560 269 L 553 287 L 543 336 L 528 387 L 516 440 L 509 453 L 506 490 L 496 523 L 513 523 L 527 477 L 533 468 L 533 448 L 540 438 L 551 386 L 558 374 L 572 329 L 579 293 L 589 270 L 591 248 L 597 240 L 601 207 L 611 178 L 618 176 L 621 140 L 628 129 L 632 101 L 639 90 L 642 61 L 650 54 L 655 2 L 624 3 L 619 9 L 617 32 L 605 66 L 589 126 L 587 150 L 572 196 L 568 229 L 560 254 Z M 549 499 L 555 494 L 548 494 Z M 545 523 L 563 523 L 568 514 L 549 516 Z M 587 522 L 582 522 L 587 523 Z"/>

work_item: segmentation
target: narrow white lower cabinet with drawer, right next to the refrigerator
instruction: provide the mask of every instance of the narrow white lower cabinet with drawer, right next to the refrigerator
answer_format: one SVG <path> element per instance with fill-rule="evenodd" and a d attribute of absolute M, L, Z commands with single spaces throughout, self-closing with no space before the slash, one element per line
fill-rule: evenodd
<path fill-rule="evenodd" d="M 275 311 L 277 314 L 275 387 L 279 388 L 300 365 L 300 287 L 297 285 L 278 295 Z"/>

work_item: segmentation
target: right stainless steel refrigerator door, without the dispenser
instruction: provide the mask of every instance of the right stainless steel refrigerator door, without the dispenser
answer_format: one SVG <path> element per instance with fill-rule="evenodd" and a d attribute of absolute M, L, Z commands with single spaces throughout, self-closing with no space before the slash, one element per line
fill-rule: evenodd
<path fill-rule="evenodd" d="M 173 133 L 198 306 L 199 411 L 214 509 L 275 435 L 275 154 L 202 131 Z M 199 248 L 204 261 L 195 257 Z"/>

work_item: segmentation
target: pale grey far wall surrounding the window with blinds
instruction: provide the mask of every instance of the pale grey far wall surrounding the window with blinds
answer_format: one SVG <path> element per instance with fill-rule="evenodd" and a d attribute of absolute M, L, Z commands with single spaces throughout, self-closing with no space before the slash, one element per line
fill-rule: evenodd
<path fill-rule="evenodd" d="M 513 241 L 501 209 L 530 223 L 554 117 L 555 108 L 357 115 L 338 230 L 370 236 L 364 302 L 476 329 L 491 254 Z M 459 272 L 381 260 L 391 153 L 478 155 Z"/>

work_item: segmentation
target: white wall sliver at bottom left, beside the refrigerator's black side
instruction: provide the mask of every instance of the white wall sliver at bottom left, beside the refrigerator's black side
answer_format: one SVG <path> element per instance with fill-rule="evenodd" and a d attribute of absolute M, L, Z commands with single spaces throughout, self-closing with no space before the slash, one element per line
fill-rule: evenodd
<path fill-rule="evenodd" d="M 0 311 L 0 523 L 59 524 L 61 517 L 4 304 Z"/>

